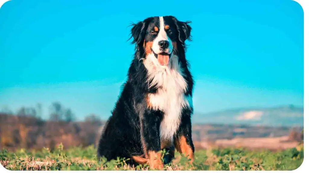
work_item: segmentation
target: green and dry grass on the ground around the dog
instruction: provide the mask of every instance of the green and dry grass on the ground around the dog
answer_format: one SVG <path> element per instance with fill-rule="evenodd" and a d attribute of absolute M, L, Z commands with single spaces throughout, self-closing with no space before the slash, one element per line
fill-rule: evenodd
<path fill-rule="evenodd" d="M 164 170 L 295 170 L 303 162 L 303 145 L 284 151 L 253 151 L 241 148 L 198 150 L 193 165 L 176 152 L 173 163 Z M 75 147 L 53 152 L 42 151 L 0 151 L 0 162 L 8 170 L 150 170 L 148 165 L 129 167 L 124 159 L 98 162 L 93 146 Z"/>

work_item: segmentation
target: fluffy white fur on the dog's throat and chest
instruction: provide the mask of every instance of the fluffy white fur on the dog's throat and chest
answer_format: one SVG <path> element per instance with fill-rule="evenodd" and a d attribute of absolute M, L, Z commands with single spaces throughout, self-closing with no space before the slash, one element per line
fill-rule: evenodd
<path fill-rule="evenodd" d="M 178 57 L 173 55 L 168 66 L 161 66 L 150 54 L 144 60 L 144 65 L 148 70 L 149 86 L 158 87 L 157 93 L 148 95 L 148 102 L 152 109 L 164 112 L 160 124 L 161 140 L 172 141 L 180 125 L 183 107 L 192 107 L 192 97 L 184 95 L 187 82 L 182 76 Z"/>

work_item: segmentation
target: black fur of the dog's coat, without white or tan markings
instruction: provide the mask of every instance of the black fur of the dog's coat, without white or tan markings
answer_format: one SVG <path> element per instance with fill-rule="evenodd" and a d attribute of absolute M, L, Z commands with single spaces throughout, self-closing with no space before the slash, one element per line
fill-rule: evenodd
<path fill-rule="evenodd" d="M 189 71 L 189 64 L 185 58 L 185 40 L 191 40 L 190 22 L 180 22 L 173 16 L 164 16 L 164 20 L 169 22 L 174 32 L 170 37 L 177 42 L 177 55 L 184 70 L 184 79 L 187 81 L 188 90 L 185 95 L 193 92 L 193 78 Z M 132 24 L 131 38 L 135 44 L 135 54 L 128 71 L 128 79 L 123 85 L 123 91 L 116 102 L 116 106 L 109 117 L 98 144 L 98 157 L 106 157 L 107 160 L 120 158 L 132 158 L 134 155 L 145 156 L 141 140 L 145 141 L 147 151 L 160 151 L 160 122 L 164 112 L 154 111 L 147 108 L 146 95 L 155 93 L 157 88 L 149 88 L 147 85 L 147 70 L 140 61 L 145 58 L 143 47 L 144 40 L 151 41 L 149 26 L 157 23 L 159 17 L 146 18 L 144 21 Z M 175 138 L 179 135 L 186 137 L 188 145 L 194 152 L 191 138 L 191 114 L 193 108 L 184 108 L 181 115 L 179 130 Z M 167 148 L 169 149 L 169 148 Z M 164 158 L 164 163 L 168 163 L 173 155 Z M 129 164 L 136 165 L 133 159 Z"/>

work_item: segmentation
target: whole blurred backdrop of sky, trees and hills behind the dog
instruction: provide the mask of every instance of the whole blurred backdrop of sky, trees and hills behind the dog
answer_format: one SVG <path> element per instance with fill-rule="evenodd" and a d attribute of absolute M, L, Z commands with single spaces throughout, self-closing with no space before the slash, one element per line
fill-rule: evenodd
<path fill-rule="evenodd" d="M 186 57 L 196 81 L 197 149 L 277 150 L 303 139 L 303 9 L 297 2 L 155 4 L 6 2 L 0 9 L 0 148 L 96 146 L 134 53 L 130 22 L 162 15 L 192 21 Z"/>

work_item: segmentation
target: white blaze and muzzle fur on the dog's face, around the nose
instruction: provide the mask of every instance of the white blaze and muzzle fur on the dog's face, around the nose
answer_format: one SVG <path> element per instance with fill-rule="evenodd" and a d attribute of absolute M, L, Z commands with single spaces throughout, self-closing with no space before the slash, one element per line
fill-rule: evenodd
<path fill-rule="evenodd" d="M 159 29 L 159 33 L 158 33 L 157 38 L 155 38 L 155 40 L 152 44 L 152 50 L 156 54 L 162 53 L 162 50 L 160 50 L 160 47 L 159 47 L 159 41 L 165 40 L 165 41 L 168 41 L 168 43 L 169 43 L 168 48 L 165 50 L 165 52 L 168 53 L 168 54 L 171 54 L 172 51 L 173 51 L 173 45 L 172 45 L 171 39 L 167 36 L 167 33 L 164 29 L 164 19 L 161 16 L 161 17 L 159 17 L 159 20 L 160 20 L 160 26 L 159 26 L 160 29 Z"/>

